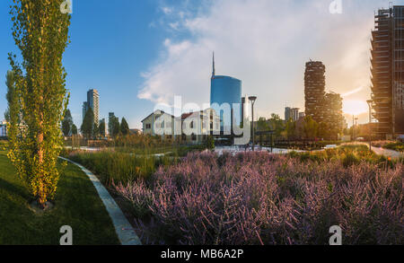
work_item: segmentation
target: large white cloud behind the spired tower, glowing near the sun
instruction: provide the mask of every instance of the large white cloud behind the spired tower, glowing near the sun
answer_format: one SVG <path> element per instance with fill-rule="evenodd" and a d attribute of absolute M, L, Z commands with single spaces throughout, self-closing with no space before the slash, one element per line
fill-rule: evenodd
<path fill-rule="evenodd" d="M 386 1 L 343 1 L 343 14 L 330 14 L 331 2 L 217 0 L 203 2 L 203 12 L 193 14 L 185 7 L 162 9 L 170 14 L 169 28 L 189 38 L 173 34 L 164 41 L 164 54 L 143 75 L 138 97 L 172 103 L 181 95 L 184 102 L 208 102 L 213 50 L 216 74 L 241 79 L 243 93 L 259 96 L 262 116 L 283 112 L 286 102 L 303 108 L 309 58 L 327 66 L 327 86 L 334 92 L 367 86 L 373 10 Z M 369 91 L 359 95 L 366 100 Z"/>

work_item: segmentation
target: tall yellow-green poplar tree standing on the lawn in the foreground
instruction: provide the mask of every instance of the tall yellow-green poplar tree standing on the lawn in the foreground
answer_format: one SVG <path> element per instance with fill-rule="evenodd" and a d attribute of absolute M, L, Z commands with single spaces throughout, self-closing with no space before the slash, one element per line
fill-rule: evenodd
<path fill-rule="evenodd" d="M 22 63 L 9 54 L 19 107 L 10 112 L 8 156 L 43 207 L 57 190 L 57 155 L 63 145 L 60 124 L 68 103 L 62 57 L 69 42 L 70 15 L 61 13 L 62 3 L 13 0 L 10 6 Z"/>

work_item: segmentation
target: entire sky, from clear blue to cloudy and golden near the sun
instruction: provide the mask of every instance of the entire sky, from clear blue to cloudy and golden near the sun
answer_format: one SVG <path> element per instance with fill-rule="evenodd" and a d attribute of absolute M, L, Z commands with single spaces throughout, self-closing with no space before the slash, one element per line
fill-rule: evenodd
<path fill-rule="evenodd" d="M 242 93 L 258 96 L 259 117 L 283 118 L 285 106 L 304 109 L 304 66 L 312 59 L 326 66 L 326 90 L 343 95 L 344 110 L 366 123 L 373 14 L 389 2 L 73 0 L 72 42 L 64 54 L 68 108 L 80 127 L 86 92 L 97 89 L 101 118 L 115 112 L 136 128 L 174 96 L 202 107 L 215 51 L 216 75 L 241 79 Z M 0 118 L 7 54 L 18 54 L 11 3 L 0 1 Z"/>

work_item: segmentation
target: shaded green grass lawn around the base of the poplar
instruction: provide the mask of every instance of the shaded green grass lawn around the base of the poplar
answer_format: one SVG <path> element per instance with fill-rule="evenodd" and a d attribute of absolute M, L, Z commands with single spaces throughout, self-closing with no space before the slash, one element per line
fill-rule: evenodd
<path fill-rule="evenodd" d="M 36 214 L 31 196 L 0 150 L 0 244 L 58 245 L 70 225 L 74 245 L 115 245 L 119 240 L 105 206 L 92 182 L 77 167 L 68 164 L 57 185 L 55 207 Z"/>

